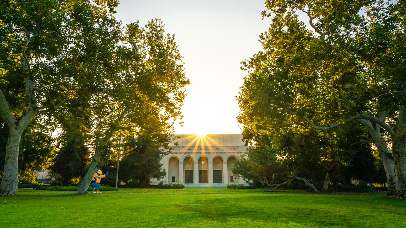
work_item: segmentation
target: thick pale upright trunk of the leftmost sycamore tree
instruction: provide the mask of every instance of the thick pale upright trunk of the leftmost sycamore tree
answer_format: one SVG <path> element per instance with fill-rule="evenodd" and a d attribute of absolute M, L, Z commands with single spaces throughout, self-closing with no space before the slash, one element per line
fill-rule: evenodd
<path fill-rule="evenodd" d="M 2 196 L 17 195 L 18 188 L 18 152 L 22 131 L 17 127 L 9 128 L 9 138 L 4 159 L 3 178 L 0 185 Z"/>

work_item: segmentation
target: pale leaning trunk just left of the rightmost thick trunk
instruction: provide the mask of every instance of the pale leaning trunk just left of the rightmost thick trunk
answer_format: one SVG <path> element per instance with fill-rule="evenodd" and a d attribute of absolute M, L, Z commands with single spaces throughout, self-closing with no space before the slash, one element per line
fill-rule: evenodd
<path fill-rule="evenodd" d="M 384 113 L 380 115 L 380 118 L 384 118 Z M 380 125 L 376 124 L 375 127 L 369 120 L 359 120 L 368 130 L 369 135 L 374 141 L 376 148 L 378 149 L 379 157 L 383 163 L 386 179 L 388 183 L 388 196 L 395 195 L 396 192 L 396 176 L 395 165 L 391 153 L 380 132 Z"/>

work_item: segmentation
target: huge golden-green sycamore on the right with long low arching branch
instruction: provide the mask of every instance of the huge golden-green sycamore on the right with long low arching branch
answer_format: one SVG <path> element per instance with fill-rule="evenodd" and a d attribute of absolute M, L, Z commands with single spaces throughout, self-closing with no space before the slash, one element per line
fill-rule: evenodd
<path fill-rule="evenodd" d="M 267 0 L 263 51 L 243 62 L 245 140 L 365 127 L 389 195 L 406 198 L 406 6 L 384 0 Z M 307 17 L 301 22 L 298 15 Z"/>

